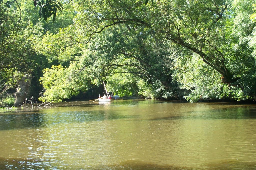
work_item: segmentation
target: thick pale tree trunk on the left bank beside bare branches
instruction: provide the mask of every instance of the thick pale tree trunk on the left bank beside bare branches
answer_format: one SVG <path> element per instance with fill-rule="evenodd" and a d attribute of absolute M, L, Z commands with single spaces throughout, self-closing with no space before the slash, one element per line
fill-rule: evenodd
<path fill-rule="evenodd" d="M 22 103 L 24 103 L 26 96 L 28 94 L 28 88 L 31 83 L 31 75 L 24 75 L 22 79 L 18 83 L 18 88 L 16 89 L 15 93 L 15 102 L 14 106 L 20 106 Z"/>

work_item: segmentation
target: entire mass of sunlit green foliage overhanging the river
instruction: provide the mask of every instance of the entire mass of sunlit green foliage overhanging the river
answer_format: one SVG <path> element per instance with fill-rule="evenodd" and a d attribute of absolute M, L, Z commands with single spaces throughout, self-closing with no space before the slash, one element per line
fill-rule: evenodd
<path fill-rule="evenodd" d="M 14 2 L 0 8 L 0 78 L 15 88 L 14 73 L 47 68 L 35 76 L 42 101 L 71 98 L 103 80 L 120 96 L 256 98 L 253 0 L 47 0 L 34 1 L 35 10 Z"/>

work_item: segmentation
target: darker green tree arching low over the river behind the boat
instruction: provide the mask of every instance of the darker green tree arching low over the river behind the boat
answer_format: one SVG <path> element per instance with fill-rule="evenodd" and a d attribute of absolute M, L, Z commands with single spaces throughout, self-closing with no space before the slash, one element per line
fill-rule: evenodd
<path fill-rule="evenodd" d="M 99 85 L 99 83 L 102 83 L 102 80 L 109 75 L 106 81 L 108 83 L 112 82 L 112 87 L 116 87 L 115 83 L 119 82 L 113 81 L 115 78 L 111 75 L 127 74 L 128 76 L 132 73 L 140 79 L 149 82 L 148 84 L 154 82 L 156 85 L 155 82 L 159 82 L 157 84 L 157 89 L 161 89 L 160 91 L 162 92 L 166 91 L 166 93 L 165 96 L 159 93 L 154 96 L 155 98 L 167 98 L 177 95 L 175 91 L 177 86 L 172 86 L 172 84 L 175 84 L 172 82 L 172 70 L 164 66 L 163 57 L 167 54 L 167 51 L 163 51 L 162 49 L 156 50 L 156 41 L 151 37 L 151 34 L 147 34 L 147 32 L 142 34 L 141 30 L 128 29 L 127 27 L 122 28 L 121 26 L 120 28 L 106 29 L 104 32 L 106 33 L 95 36 L 89 47 L 83 47 L 81 46 L 82 43 L 80 43 L 76 48 L 66 47 L 66 50 L 63 53 L 57 52 L 59 55 L 57 55 L 56 51 L 61 49 L 61 44 L 64 45 L 67 43 L 66 39 L 64 40 L 63 38 L 60 38 L 63 36 L 67 37 L 65 32 L 45 37 L 45 39 L 42 40 L 44 45 L 40 45 L 40 47 L 48 49 L 52 47 L 47 45 L 52 44 L 49 43 L 49 41 L 55 42 L 56 46 L 54 47 L 56 50 L 50 50 L 53 52 L 48 54 L 49 58 L 59 59 L 59 61 L 68 61 L 71 59 L 72 61 L 70 62 L 67 70 L 70 70 L 71 67 L 75 67 L 72 68 L 72 70 L 82 70 L 81 72 L 83 73 L 81 74 L 83 74 L 83 78 L 84 76 L 88 77 L 88 75 L 90 75 L 88 80 L 90 80 L 92 84 L 95 83 L 94 85 Z M 126 34 L 127 32 L 129 34 Z M 164 48 L 164 44 L 162 42 L 157 43 L 158 48 Z M 84 48 L 86 48 L 86 50 L 82 51 Z M 70 53 L 71 49 L 72 53 Z M 46 50 L 42 49 L 41 51 Z M 69 55 L 66 55 L 66 53 Z M 158 70 L 156 68 L 158 68 Z M 73 74 L 77 75 L 78 72 L 80 71 Z M 47 76 L 46 79 L 50 79 L 50 77 Z M 90 84 L 86 80 L 83 81 L 84 84 Z M 42 82 L 42 84 L 46 88 L 46 91 L 50 90 L 50 87 L 48 87 L 45 82 Z M 83 87 L 80 86 L 79 83 L 77 84 L 79 87 Z M 65 87 L 68 88 L 68 86 Z M 89 89 L 90 87 L 91 86 L 88 85 L 87 88 L 84 88 L 81 91 L 85 92 L 84 90 Z M 123 90 L 124 89 L 125 88 L 123 88 Z M 119 95 L 127 95 L 129 93 L 135 94 L 132 91 L 136 91 L 135 86 L 134 89 L 126 90 L 126 92 L 119 91 Z M 45 97 L 47 98 L 47 95 Z M 52 100 L 52 98 L 49 98 L 49 100 Z"/>

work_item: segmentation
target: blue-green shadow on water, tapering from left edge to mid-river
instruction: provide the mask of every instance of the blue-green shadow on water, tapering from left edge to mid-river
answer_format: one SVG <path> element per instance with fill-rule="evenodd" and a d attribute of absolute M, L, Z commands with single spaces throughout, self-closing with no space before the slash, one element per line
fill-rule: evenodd
<path fill-rule="evenodd" d="M 99 111 L 67 111 L 47 113 L 4 113 L 0 114 L 0 130 L 40 128 L 59 123 L 79 123 L 87 121 L 104 121 L 114 119 L 130 119 L 135 115 L 119 115 Z"/>

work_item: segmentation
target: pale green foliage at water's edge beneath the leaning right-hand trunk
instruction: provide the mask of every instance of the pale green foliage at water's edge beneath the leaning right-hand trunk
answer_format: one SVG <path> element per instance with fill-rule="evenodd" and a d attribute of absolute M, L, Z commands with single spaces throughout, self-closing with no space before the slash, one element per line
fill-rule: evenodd
<path fill-rule="evenodd" d="M 249 98 L 241 89 L 223 83 L 221 75 L 198 55 L 176 58 L 175 63 L 175 79 L 182 83 L 180 88 L 189 91 L 184 98 L 190 102 Z"/>

